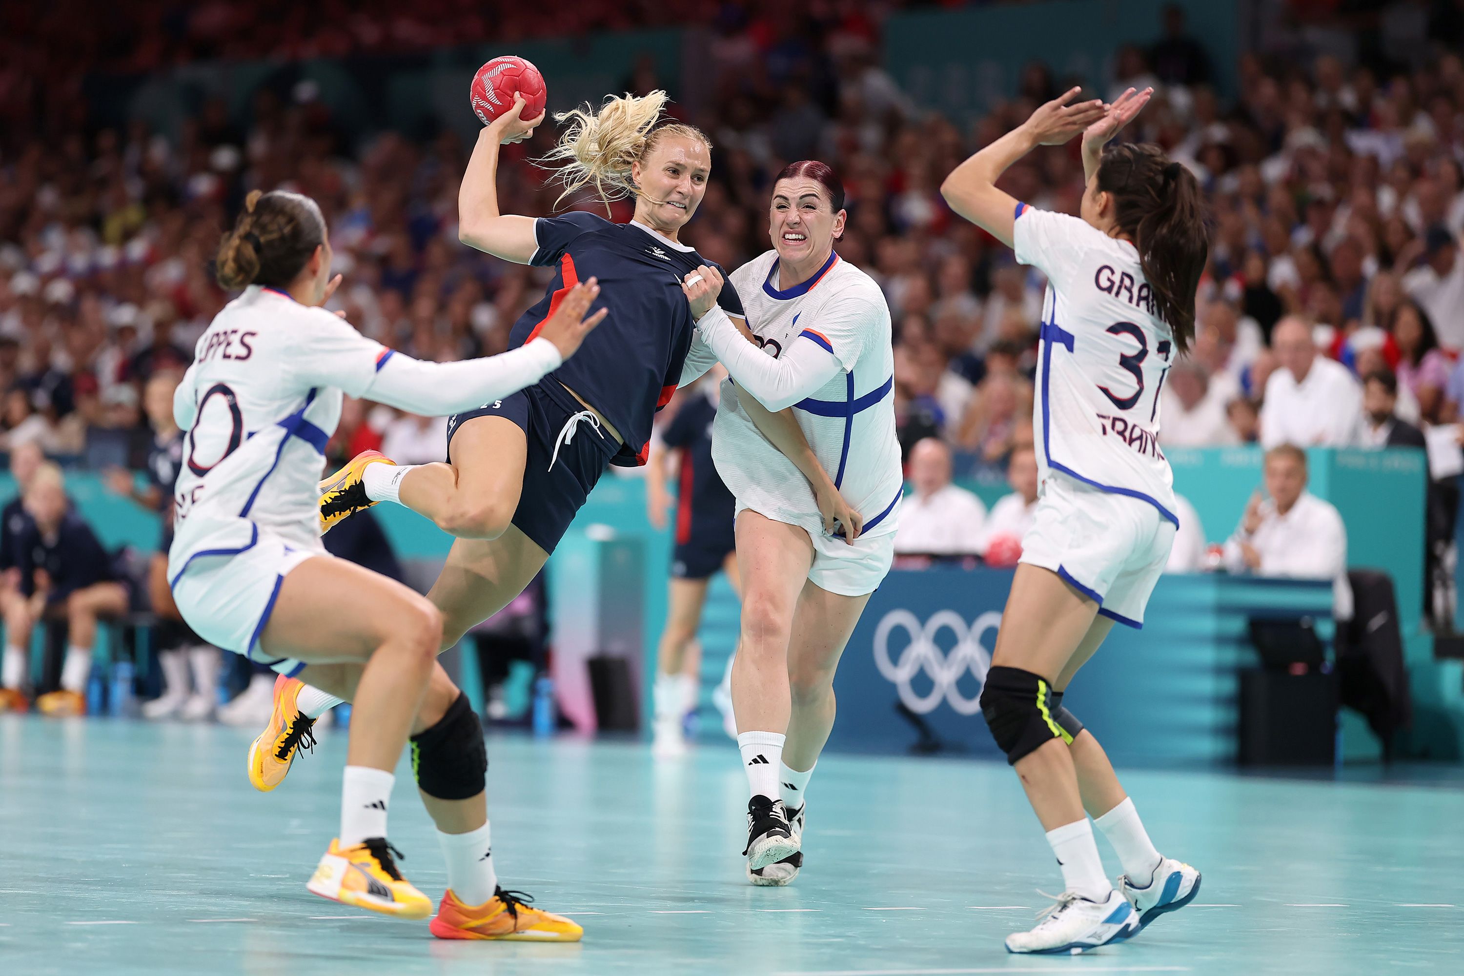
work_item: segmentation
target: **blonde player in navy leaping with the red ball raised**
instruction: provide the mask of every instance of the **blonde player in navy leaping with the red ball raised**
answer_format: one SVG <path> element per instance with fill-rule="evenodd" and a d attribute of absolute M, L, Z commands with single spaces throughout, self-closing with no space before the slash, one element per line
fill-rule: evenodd
<path fill-rule="evenodd" d="M 635 199 L 628 224 L 589 212 L 534 218 L 501 214 L 495 179 L 499 146 L 527 139 L 543 117 L 521 120 L 523 98 L 486 126 L 473 149 L 458 192 L 458 237 L 504 260 L 553 268 L 543 299 L 509 334 L 509 347 L 533 345 L 546 322 L 577 284 L 597 287 L 593 315 L 605 310 L 578 356 L 539 383 L 448 424 L 448 462 L 397 465 L 366 452 L 321 483 L 324 528 L 382 500 L 404 505 L 455 537 L 429 600 L 444 617 L 442 647 L 502 610 L 543 568 L 575 512 L 610 464 L 646 462 L 651 420 L 682 379 L 694 320 L 684 281 L 710 265 L 679 241 L 706 193 L 712 145 L 701 130 L 662 120 L 666 94 L 608 98 L 556 116 L 568 123 L 548 164 L 558 167 L 564 195 L 593 189 L 602 200 Z M 561 196 L 564 199 L 564 196 Z M 739 325 L 742 304 L 723 288 L 719 307 Z M 706 364 L 694 369 L 700 376 Z M 780 451 L 804 457 L 808 445 L 798 421 L 761 413 L 760 429 Z M 832 483 L 832 481 L 830 481 Z M 821 505 L 851 518 L 834 493 Z M 335 688 L 277 685 L 277 711 L 288 724 L 307 723 L 341 699 Z M 470 711 L 464 695 L 439 667 L 419 710 L 423 721 L 448 711 Z M 274 720 L 272 720 L 274 721 Z M 283 778 L 293 749 L 264 752 Z M 480 771 L 474 773 L 479 776 Z M 463 828 L 480 828 L 483 793 L 460 800 Z M 457 808 L 454 808 L 457 809 Z M 451 811 L 433 808 L 439 819 Z M 479 836 L 479 834 L 474 834 Z M 486 856 L 486 853 L 485 853 Z"/>

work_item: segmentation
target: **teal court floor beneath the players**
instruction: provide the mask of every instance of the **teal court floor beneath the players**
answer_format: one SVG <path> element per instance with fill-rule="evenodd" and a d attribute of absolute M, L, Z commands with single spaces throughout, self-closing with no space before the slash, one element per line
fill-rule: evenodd
<path fill-rule="evenodd" d="M 441 942 L 310 896 L 346 736 L 269 795 L 244 778 L 247 739 L 0 717 L 0 973 L 1464 973 L 1457 777 L 1129 773 L 1159 849 L 1203 871 L 1196 904 L 1126 945 L 1013 957 L 1001 938 L 1061 882 L 1001 764 L 827 757 L 804 875 L 752 888 L 731 743 L 668 765 L 637 743 L 495 736 L 505 887 L 586 928 L 580 945 L 526 945 Z M 438 897 L 445 872 L 406 765 L 391 822 L 407 875 Z"/>

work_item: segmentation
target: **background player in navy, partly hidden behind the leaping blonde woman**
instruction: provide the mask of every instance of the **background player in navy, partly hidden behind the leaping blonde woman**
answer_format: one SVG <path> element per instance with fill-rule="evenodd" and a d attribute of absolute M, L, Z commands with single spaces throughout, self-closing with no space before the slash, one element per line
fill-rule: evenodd
<path fill-rule="evenodd" d="M 717 370 L 720 373 L 720 370 Z M 671 590 L 666 626 L 656 651 L 654 724 L 651 752 L 675 757 L 687 751 L 684 721 L 697 705 L 695 647 L 707 585 L 726 572 L 742 596 L 736 569 L 736 499 L 712 461 L 712 423 L 717 418 L 720 379 L 703 379 L 678 397 L 675 416 L 659 432 L 662 448 L 651 446 L 647 478 L 650 518 L 666 527 L 663 449 L 676 452 L 675 549 L 671 555 Z"/>

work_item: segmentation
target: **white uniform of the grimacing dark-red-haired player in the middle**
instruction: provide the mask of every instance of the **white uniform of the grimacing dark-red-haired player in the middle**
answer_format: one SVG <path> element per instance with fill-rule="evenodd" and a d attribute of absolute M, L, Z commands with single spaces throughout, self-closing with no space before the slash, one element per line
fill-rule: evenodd
<path fill-rule="evenodd" d="M 777 252 L 732 272 L 761 350 L 713 310 L 698 325 L 682 382 L 720 360 L 731 375 L 712 427 L 712 458 L 736 496 L 736 511 L 808 530 L 808 578 L 843 596 L 874 593 L 895 560 L 895 530 L 905 480 L 895 433 L 895 351 L 890 309 L 880 287 L 830 255 L 804 284 L 777 288 Z M 752 424 L 738 398 L 755 395 L 772 411 L 793 408 L 818 462 L 864 515 L 851 546 L 824 534 L 802 473 Z"/>

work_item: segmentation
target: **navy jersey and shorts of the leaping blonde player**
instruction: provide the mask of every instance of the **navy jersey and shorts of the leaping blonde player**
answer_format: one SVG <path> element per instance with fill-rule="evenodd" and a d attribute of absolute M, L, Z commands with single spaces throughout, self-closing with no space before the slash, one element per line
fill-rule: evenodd
<path fill-rule="evenodd" d="M 539 250 L 529 263 L 553 266 L 555 278 L 548 294 L 514 323 L 509 348 L 536 338 L 569 288 L 591 277 L 600 281 L 591 310 L 603 306 L 610 313 L 578 353 L 537 385 L 451 417 L 448 458 L 452 435 L 466 420 L 507 417 L 518 424 L 529 442 L 529 458 L 514 525 L 540 549 L 553 552 L 606 465 L 646 464 L 651 421 L 676 392 L 695 331 L 681 281 L 697 265 L 712 262 L 637 224 L 612 224 L 586 212 L 540 218 L 534 236 Z M 722 287 L 717 304 L 729 315 L 744 315 L 731 282 Z M 581 424 L 549 470 L 559 432 L 584 410 L 565 386 L 594 407 L 625 443 L 616 445 L 612 436 Z"/>

